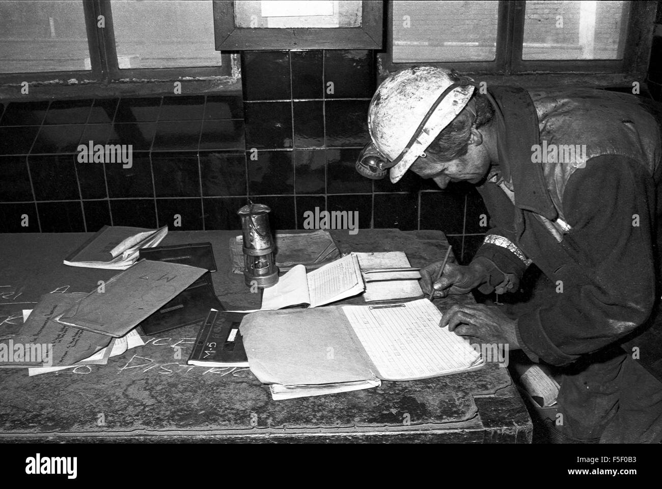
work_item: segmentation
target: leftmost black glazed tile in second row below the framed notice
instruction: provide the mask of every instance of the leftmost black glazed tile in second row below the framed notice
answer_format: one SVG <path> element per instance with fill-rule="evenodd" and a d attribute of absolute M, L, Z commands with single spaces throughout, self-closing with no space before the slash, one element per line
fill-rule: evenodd
<path fill-rule="evenodd" d="M 292 107 L 290 102 L 245 103 L 246 148 L 292 147 Z"/>

